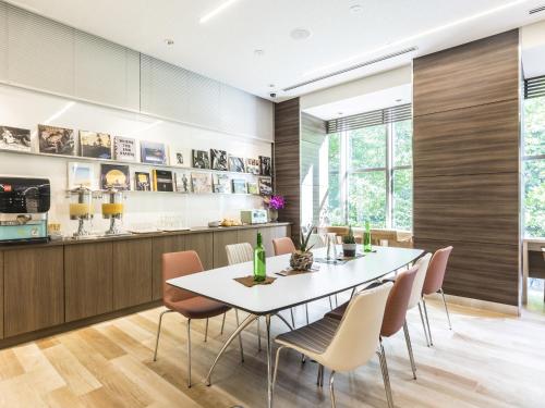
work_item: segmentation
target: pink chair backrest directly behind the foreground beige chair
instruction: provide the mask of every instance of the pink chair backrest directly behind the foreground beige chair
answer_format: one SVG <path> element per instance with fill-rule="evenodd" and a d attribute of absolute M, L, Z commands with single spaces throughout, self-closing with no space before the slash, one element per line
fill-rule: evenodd
<path fill-rule="evenodd" d="M 413 265 L 407 271 L 401 272 L 396 277 L 393 287 L 388 295 L 386 302 L 386 310 L 384 312 L 383 327 L 380 335 L 389 337 L 403 326 L 407 316 L 407 307 L 409 306 L 409 298 L 411 297 L 412 285 L 414 277 L 419 271 L 417 265 Z"/>

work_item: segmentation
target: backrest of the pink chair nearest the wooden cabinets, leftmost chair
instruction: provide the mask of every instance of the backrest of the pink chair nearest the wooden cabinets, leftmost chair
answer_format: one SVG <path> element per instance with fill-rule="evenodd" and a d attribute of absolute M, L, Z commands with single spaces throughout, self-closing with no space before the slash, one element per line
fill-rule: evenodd
<path fill-rule="evenodd" d="M 162 299 L 180 301 L 195 297 L 191 292 L 167 284 L 168 280 L 203 272 L 203 263 L 194 250 L 162 254 Z"/>

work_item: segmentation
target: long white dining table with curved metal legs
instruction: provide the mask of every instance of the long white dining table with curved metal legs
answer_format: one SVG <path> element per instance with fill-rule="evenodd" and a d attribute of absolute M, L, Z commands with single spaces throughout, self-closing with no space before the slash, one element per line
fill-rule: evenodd
<path fill-rule="evenodd" d="M 376 281 L 397 271 L 420 258 L 424 251 L 421 249 L 374 247 L 373 252 L 347 262 L 318 263 L 317 271 L 280 276 L 277 273 L 289 267 L 290 255 L 268 257 L 267 275 L 276 277 L 268 285 L 246 287 L 234 281 L 235 277 L 252 275 L 253 263 L 238 263 L 223 268 L 194 273 L 167 281 L 169 285 L 192 292 L 196 295 L 220 301 L 234 309 L 250 313 L 227 339 L 218 353 L 206 382 L 211 384 L 211 373 L 223 351 L 238 336 L 238 334 L 259 317 L 266 321 L 266 349 L 267 349 L 267 406 L 272 407 L 272 354 L 270 338 L 270 319 L 279 317 L 279 311 L 322 299 L 344 290 Z M 325 258 L 325 249 L 314 251 L 314 257 Z M 291 327 L 291 326 L 290 326 Z"/>

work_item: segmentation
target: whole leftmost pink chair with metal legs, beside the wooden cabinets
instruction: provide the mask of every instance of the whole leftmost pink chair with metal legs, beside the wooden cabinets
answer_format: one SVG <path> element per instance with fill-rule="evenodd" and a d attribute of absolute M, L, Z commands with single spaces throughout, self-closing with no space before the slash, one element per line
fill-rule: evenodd
<path fill-rule="evenodd" d="M 159 347 L 159 336 L 161 334 L 162 316 L 165 313 L 178 312 L 187 319 L 187 387 L 191 387 L 191 321 L 206 319 L 205 342 L 208 335 L 208 319 L 226 313 L 231 308 L 219 301 L 210 300 L 191 292 L 180 289 L 167 283 L 168 280 L 185 276 L 192 273 L 203 272 L 197 252 L 186 250 L 181 252 L 170 252 L 162 255 L 162 302 L 167 310 L 159 316 L 157 327 L 157 338 L 155 341 L 154 361 L 157 361 L 157 349 Z M 239 313 L 235 310 L 237 325 L 239 324 Z M 239 335 L 241 358 L 244 361 L 242 338 Z"/>

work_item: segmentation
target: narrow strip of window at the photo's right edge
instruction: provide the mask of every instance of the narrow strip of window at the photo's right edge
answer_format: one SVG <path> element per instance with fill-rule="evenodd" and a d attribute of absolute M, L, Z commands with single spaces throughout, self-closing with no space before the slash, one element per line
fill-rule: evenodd
<path fill-rule="evenodd" d="M 524 100 L 524 235 L 545 236 L 545 96 Z"/>

